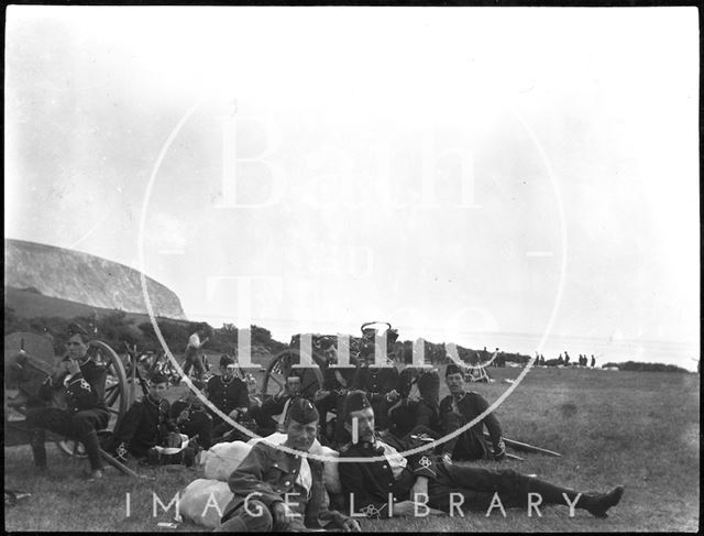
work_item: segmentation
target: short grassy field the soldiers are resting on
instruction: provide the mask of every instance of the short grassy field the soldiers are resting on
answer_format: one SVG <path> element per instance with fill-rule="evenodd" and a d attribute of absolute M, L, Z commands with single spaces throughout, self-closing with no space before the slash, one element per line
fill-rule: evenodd
<path fill-rule="evenodd" d="M 496 400 L 520 369 L 492 369 L 492 384 L 473 389 Z M 176 391 L 172 396 L 177 394 Z M 582 491 L 626 488 L 607 519 L 584 511 L 570 518 L 566 507 L 542 508 L 541 517 L 508 510 L 503 517 L 472 514 L 464 518 L 362 521 L 365 530 L 388 532 L 627 532 L 688 530 L 700 524 L 700 376 L 697 374 L 532 370 L 498 408 L 505 435 L 563 453 L 548 458 L 521 453 L 526 461 L 486 463 L 510 467 Z M 6 530 L 157 530 L 173 521 L 157 510 L 200 477 L 198 469 L 139 468 L 154 481 L 134 481 L 107 469 L 106 479 L 86 482 L 84 466 L 47 446 L 51 475 L 32 470 L 29 447 L 6 448 L 4 485 L 32 496 L 6 506 Z M 127 517 L 125 494 L 131 494 Z M 176 530 L 202 527 L 182 523 Z"/>

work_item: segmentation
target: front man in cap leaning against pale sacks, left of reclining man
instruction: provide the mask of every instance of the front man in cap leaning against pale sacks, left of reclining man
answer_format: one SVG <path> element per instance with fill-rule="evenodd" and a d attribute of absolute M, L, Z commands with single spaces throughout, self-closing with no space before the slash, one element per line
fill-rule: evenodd
<path fill-rule="evenodd" d="M 286 417 L 285 447 L 307 452 L 318 431 L 318 412 L 305 398 L 290 405 Z M 341 528 L 360 532 L 360 525 L 324 501 L 322 463 L 260 441 L 229 479 L 234 496 L 226 506 L 216 532 L 308 532 Z"/>

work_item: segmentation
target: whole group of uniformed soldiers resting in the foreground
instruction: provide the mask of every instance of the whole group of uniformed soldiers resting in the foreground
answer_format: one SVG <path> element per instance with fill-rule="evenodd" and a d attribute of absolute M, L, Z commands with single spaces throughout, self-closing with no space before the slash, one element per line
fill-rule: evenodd
<path fill-rule="evenodd" d="M 88 355 L 85 330 L 73 325 L 67 337 L 66 359 L 44 386 L 46 393 L 65 391 L 67 407 L 35 407 L 28 413 L 34 461 L 40 471 L 46 471 L 44 434 L 53 430 L 84 444 L 88 477 L 98 479 L 102 460 L 97 433 L 109 419 L 106 370 Z M 393 364 L 378 367 L 364 347 L 354 367 L 336 368 L 337 352 L 322 350 L 315 359 L 323 384 L 312 400 L 301 392 L 301 369 L 296 368 L 288 371 L 282 392 L 262 400 L 256 382 L 238 378 L 229 355 L 221 358 L 220 374 L 207 384 L 193 380 L 222 415 L 262 436 L 275 430 L 286 434 L 288 449 L 260 441 L 231 474 L 234 496 L 219 530 L 301 530 L 323 525 L 359 532 L 355 516 L 409 516 L 424 507 L 450 514 L 486 512 L 497 500 L 502 510 L 525 507 L 535 494 L 543 505 L 562 504 L 605 517 L 619 502 L 622 486 L 604 494 L 579 493 L 512 469 L 458 464 L 460 460 L 502 460 L 506 453 L 493 412 L 457 433 L 488 409 L 483 396 L 468 392 L 460 365 L 446 368 L 450 394 L 439 400 L 437 370 L 407 367 L 399 373 Z M 148 393 L 132 404 L 110 438 L 109 451 L 123 460 L 193 464 L 198 448 L 240 438 L 241 431 L 221 415 L 206 411 L 196 392 L 169 404 L 168 389 L 163 374 L 150 379 Z M 326 426 L 329 413 L 336 415 L 332 426 Z M 452 437 L 443 440 L 446 436 Z M 351 458 L 339 463 L 344 492 L 332 502 L 338 510 L 330 510 L 323 499 L 321 462 L 296 453 L 307 452 L 316 439 L 338 449 L 341 459 Z"/>

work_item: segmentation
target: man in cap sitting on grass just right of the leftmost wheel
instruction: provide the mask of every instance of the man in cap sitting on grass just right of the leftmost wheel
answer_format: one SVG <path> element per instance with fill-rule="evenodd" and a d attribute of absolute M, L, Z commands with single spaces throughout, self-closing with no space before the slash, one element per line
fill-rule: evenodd
<path fill-rule="evenodd" d="M 130 406 L 112 439 L 111 450 L 118 460 L 127 462 L 129 453 L 150 464 L 194 464 L 195 451 L 183 445 L 178 426 L 169 415 L 165 398 L 168 386 L 166 375 L 154 373 L 148 394 Z"/>

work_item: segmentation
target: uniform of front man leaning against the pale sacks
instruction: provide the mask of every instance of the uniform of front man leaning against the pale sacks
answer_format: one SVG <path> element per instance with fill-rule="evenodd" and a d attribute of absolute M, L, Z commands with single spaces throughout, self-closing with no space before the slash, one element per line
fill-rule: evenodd
<path fill-rule="evenodd" d="M 300 483 L 301 457 L 279 450 L 266 441 L 260 441 L 242 460 L 229 479 L 229 485 L 234 496 L 224 510 L 220 530 L 229 532 L 271 532 L 284 528 L 305 530 L 306 527 L 317 528 L 320 522 L 330 528 L 342 528 L 348 519 L 340 512 L 328 510 L 324 500 L 324 481 L 322 463 L 308 460 L 311 473 L 310 490 Z M 262 515 L 248 514 L 244 501 L 250 495 L 250 512 Z M 288 494 L 288 500 L 286 500 Z M 300 517 L 293 518 L 289 527 L 279 527 L 273 523 L 271 507 L 276 502 L 287 502 L 288 506 Z M 297 503 L 297 504 L 296 504 Z"/>

